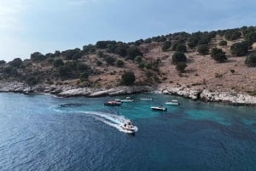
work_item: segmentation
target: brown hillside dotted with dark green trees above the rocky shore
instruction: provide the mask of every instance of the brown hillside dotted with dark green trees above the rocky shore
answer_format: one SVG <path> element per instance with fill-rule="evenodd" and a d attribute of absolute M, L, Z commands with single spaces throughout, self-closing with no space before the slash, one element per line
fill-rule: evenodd
<path fill-rule="evenodd" d="M 256 62 L 245 63 L 248 56 L 255 59 L 255 42 L 253 26 L 192 34 L 177 32 L 134 43 L 99 41 L 82 49 L 36 52 L 29 60 L 1 60 L 0 79 L 2 83 L 18 81 L 30 86 L 113 88 L 121 85 L 125 71 L 132 71 L 136 80 L 127 85 L 183 86 L 255 95 L 256 69 L 252 66 Z M 202 45 L 207 48 L 200 51 Z M 213 48 L 221 49 L 224 59 L 213 60 Z M 177 52 L 186 57 L 187 67 L 182 70 L 177 70 L 177 62 L 173 62 Z"/>

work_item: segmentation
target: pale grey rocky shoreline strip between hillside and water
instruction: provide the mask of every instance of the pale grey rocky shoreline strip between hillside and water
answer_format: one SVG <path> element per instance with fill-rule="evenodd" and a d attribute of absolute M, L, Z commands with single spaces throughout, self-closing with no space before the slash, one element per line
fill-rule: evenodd
<path fill-rule="evenodd" d="M 253 105 L 256 106 L 256 97 L 236 92 L 212 92 L 207 89 L 185 88 L 183 86 L 172 88 L 168 86 L 120 86 L 116 88 L 77 88 L 70 85 L 43 85 L 38 84 L 29 87 L 24 83 L 0 83 L 0 92 L 14 92 L 22 94 L 43 93 L 55 94 L 61 97 L 72 96 L 114 96 L 121 94 L 137 94 L 142 92 L 155 92 L 161 94 L 173 94 L 189 98 L 191 100 L 203 100 L 207 102 L 222 102 L 230 105 Z"/>

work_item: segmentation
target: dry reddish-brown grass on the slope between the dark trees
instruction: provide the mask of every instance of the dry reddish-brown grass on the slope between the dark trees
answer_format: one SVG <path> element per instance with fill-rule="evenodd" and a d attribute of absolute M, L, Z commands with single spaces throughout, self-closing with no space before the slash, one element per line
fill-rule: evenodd
<path fill-rule="evenodd" d="M 255 92 L 256 90 L 256 68 L 245 66 L 244 60 L 246 57 L 232 57 L 230 54 L 230 46 L 232 43 L 228 41 L 228 45 L 224 47 L 218 46 L 219 41 L 223 37 L 212 39 L 211 46 L 222 48 L 228 57 L 227 62 L 217 63 L 212 60 L 210 55 L 199 55 L 195 49 L 190 49 L 186 53 L 188 58 L 188 67 L 185 72 L 180 74 L 177 72 L 174 65 L 171 64 L 172 54 L 174 52 L 162 52 L 160 43 L 143 44 L 144 53 L 143 60 L 155 61 L 160 59 L 159 71 L 152 71 L 153 78 L 145 76 L 147 69 L 141 70 L 138 68 L 137 62 L 125 60 L 119 56 L 113 55 L 115 58 L 123 60 L 125 66 L 116 67 L 108 66 L 104 60 L 96 54 L 90 54 L 83 57 L 84 63 L 89 65 L 94 71 L 100 74 L 89 77 L 90 83 L 95 87 L 113 88 L 119 85 L 122 74 L 125 70 L 131 70 L 137 77 L 137 83 L 166 87 L 184 86 L 188 88 L 207 88 L 212 91 L 236 91 L 238 93 Z M 236 42 L 241 42 L 242 39 Z M 256 44 L 253 44 L 253 49 L 256 49 Z M 101 60 L 103 65 L 96 66 L 96 60 Z M 233 72 L 232 72 L 233 71 Z M 157 83 L 156 78 L 160 80 Z M 79 80 L 70 80 L 69 84 L 79 83 Z"/>

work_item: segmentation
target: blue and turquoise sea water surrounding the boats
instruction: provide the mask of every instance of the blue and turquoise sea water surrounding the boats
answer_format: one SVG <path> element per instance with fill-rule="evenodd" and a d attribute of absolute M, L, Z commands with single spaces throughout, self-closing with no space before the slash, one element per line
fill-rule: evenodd
<path fill-rule="evenodd" d="M 139 98 L 150 96 L 153 101 Z M 103 98 L 0 94 L 0 170 L 256 170 L 255 107 L 163 94 Z M 167 100 L 168 111 L 151 111 Z M 137 125 L 133 136 L 116 126 Z"/>

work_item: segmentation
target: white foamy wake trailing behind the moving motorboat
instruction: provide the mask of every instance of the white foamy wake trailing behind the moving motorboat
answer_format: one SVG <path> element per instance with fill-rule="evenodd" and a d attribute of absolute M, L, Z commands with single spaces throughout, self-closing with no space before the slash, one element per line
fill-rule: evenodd
<path fill-rule="evenodd" d="M 90 117 L 94 117 L 96 120 L 101 121 L 102 123 L 106 123 L 113 128 L 117 128 L 120 132 L 131 133 L 131 131 L 125 130 L 124 128 L 121 127 L 129 120 L 124 116 L 113 115 L 101 111 L 62 111 L 60 108 L 54 108 L 54 110 L 57 112 L 83 113 L 85 115 L 90 115 Z M 134 126 L 134 128 L 134 132 L 137 132 L 138 128 L 136 126 Z"/>

